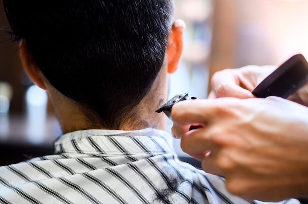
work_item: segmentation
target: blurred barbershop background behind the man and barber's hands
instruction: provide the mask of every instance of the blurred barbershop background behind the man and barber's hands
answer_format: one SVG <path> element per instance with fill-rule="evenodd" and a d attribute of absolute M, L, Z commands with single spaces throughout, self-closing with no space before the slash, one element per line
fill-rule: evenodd
<path fill-rule="evenodd" d="M 175 19 L 186 23 L 179 70 L 170 76 L 170 98 L 188 92 L 204 99 L 219 70 L 249 64 L 280 65 L 296 53 L 308 57 L 307 0 L 175 0 Z M 0 5 L 0 9 L 3 6 Z M 61 135 L 47 94 L 33 86 L 18 45 L 0 14 L 0 165 L 52 153 Z M 168 131 L 171 127 L 169 123 Z M 175 140 L 180 156 L 187 157 Z"/>

